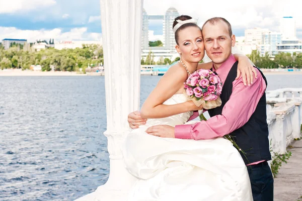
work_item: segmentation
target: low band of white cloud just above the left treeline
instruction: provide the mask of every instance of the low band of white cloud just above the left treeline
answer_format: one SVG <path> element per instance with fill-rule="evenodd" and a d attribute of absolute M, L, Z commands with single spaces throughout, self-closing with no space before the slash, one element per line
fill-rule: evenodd
<path fill-rule="evenodd" d="M 28 42 L 36 40 L 71 41 L 71 40 L 101 40 L 102 34 L 88 33 L 86 27 L 74 28 L 69 32 L 62 32 L 61 29 L 52 30 L 20 30 L 15 27 L 0 27 L 0 41 L 5 38 L 27 39 Z"/>

